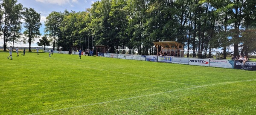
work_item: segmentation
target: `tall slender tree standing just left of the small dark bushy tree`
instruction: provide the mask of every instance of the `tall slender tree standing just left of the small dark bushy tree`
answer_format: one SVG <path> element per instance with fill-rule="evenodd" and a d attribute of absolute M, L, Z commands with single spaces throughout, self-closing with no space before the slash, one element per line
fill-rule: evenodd
<path fill-rule="evenodd" d="M 29 52 L 31 52 L 31 43 L 35 40 L 35 38 L 39 37 L 40 34 L 40 14 L 35 11 L 35 9 L 32 8 L 25 8 L 25 11 L 23 12 L 24 15 L 24 27 L 26 28 L 23 34 L 26 36 L 23 39 L 23 42 L 29 43 Z"/>

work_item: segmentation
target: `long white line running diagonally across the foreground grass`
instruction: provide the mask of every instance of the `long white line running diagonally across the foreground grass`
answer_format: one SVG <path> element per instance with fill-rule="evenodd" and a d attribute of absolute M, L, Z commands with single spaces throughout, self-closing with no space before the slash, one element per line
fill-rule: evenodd
<path fill-rule="evenodd" d="M 142 97 L 147 97 L 147 96 L 152 96 L 152 95 L 159 95 L 159 94 L 164 94 L 164 93 L 169 93 L 169 92 L 178 92 L 178 91 L 187 90 L 187 89 L 195 89 L 195 88 L 214 86 L 214 85 L 220 85 L 220 84 L 247 82 L 247 81 L 254 81 L 254 80 L 256 80 L 256 79 L 253 79 L 253 80 L 231 81 L 231 82 L 223 82 L 223 83 L 215 83 L 215 84 L 209 84 L 209 85 L 204 85 L 204 86 L 195 86 L 195 87 L 191 87 L 191 88 L 177 89 L 177 90 L 172 90 L 172 91 L 167 91 L 167 92 L 160 92 L 160 93 L 154 93 L 154 94 L 149 94 L 149 95 L 140 95 L 140 96 L 136 96 L 136 97 L 123 98 L 123 99 L 118 99 L 118 100 L 113 100 L 113 101 L 105 101 L 105 102 L 91 103 L 91 104 L 86 104 L 86 105 L 81 105 L 81 106 L 73 106 L 73 107 L 68 107 L 68 108 L 55 109 L 55 110 L 50 110 L 50 111 L 47 111 L 47 112 L 38 112 L 38 113 L 29 114 L 29 115 L 45 114 L 45 113 L 49 113 L 49 112 L 56 112 L 56 111 L 67 110 L 67 109 L 76 109 L 76 108 L 84 107 L 84 106 L 99 105 L 99 104 L 111 103 L 111 102 L 123 101 L 123 100 L 131 100 L 131 99 L 134 99 L 134 98 L 142 98 Z"/>

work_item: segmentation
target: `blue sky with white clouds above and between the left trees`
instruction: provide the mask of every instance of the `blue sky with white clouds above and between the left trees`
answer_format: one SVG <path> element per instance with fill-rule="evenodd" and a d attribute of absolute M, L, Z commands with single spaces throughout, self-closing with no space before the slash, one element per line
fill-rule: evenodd
<path fill-rule="evenodd" d="M 40 33 L 44 35 L 44 21 L 52 11 L 64 12 L 65 9 L 76 12 L 85 11 L 96 1 L 100 0 L 18 0 L 17 3 L 21 3 L 23 7 L 35 9 L 35 11 L 41 14 L 42 26 L 40 28 Z M 36 47 L 36 43 L 39 39 L 40 38 L 37 38 L 31 46 Z M 0 39 L 0 45 L 3 46 L 3 39 Z M 8 43 L 7 46 L 9 47 L 11 44 Z M 29 44 L 15 43 L 14 46 L 28 47 Z"/>

